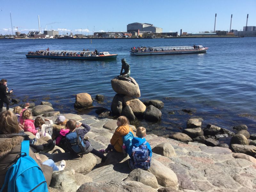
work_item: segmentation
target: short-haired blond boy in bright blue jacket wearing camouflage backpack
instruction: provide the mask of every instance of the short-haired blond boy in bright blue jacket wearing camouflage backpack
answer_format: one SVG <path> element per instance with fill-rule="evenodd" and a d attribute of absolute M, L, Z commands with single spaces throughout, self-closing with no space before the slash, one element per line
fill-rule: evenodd
<path fill-rule="evenodd" d="M 137 137 L 132 139 L 132 147 L 129 148 L 127 152 L 131 158 L 129 159 L 129 166 L 132 170 L 136 168 L 147 170 L 150 167 L 152 150 L 149 143 L 144 138 L 146 135 L 146 129 L 144 127 L 138 127 L 136 130 Z M 148 151 L 143 151 L 146 149 Z M 137 157 L 139 157 L 139 161 L 137 161 Z"/>

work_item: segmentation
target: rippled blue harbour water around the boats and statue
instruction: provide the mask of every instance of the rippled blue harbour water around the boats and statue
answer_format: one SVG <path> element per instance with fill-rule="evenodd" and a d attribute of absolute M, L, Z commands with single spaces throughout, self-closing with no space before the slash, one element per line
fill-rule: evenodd
<path fill-rule="evenodd" d="M 134 56 L 133 46 L 203 45 L 207 53 Z M 27 59 L 28 51 L 39 49 L 97 49 L 117 53 L 117 60 L 78 61 Z M 110 80 L 119 75 L 121 59 L 131 66 L 131 76 L 140 86 L 140 100 L 159 99 L 164 102 L 159 123 L 134 122 L 153 133 L 181 131 L 192 117 L 203 118 L 203 127 L 216 124 L 232 129 L 246 124 L 256 132 L 256 37 L 187 38 L 187 39 L 13 39 L 0 40 L 0 78 L 8 80 L 14 96 L 40 104 L 48 100 L 61 113 L 76 111 L 75 94 L 106 96 L 102 105 L 110 108 L 116 94 Z M 192 114 L 183 112 L 190 109 Z M 173 114 L 174 113 L 174 114 Z"/>

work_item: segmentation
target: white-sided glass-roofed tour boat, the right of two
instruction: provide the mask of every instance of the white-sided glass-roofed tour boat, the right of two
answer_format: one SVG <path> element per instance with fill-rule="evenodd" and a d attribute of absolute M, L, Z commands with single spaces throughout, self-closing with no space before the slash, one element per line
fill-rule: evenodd
<path fill-rule="evenodd" d="M 202 53 L 206 52 L 208 47 L 202 45 L 194 46 L 162 46 L 162 47 L 133 47 L 130 51 L 132 55 L 162 55 L 162 54 L 180 54 L 180 53 Z"/>

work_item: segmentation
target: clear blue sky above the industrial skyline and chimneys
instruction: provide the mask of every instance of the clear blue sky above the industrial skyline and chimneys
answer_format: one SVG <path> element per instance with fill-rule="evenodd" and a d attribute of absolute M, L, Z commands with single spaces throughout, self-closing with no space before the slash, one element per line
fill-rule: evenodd
<path fill-rule="evenodd" d="M 0 34 L 15 31 L 58 30 L 59 34 L 85 34 L 93 32 L 124 32 L 127 24 L 150 23 L 163 28 L 163 32 L 198 33 L 213 31 L 215 13 L 216 30 L 243 30 L 256 26 L 256 0 L 140 0 L 140 1 L 0 1 Z M 12 25 L 10 19 L 12 15 Z"/>

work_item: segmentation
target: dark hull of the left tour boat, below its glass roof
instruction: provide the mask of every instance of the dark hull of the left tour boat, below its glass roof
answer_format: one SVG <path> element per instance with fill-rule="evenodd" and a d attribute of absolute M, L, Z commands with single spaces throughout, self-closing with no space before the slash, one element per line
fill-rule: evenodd
<path fill-rule="evenodd" d="M 114 60 L 117 54 L 104 55 L 97 57 L 78 57 L 78 56 L 52 56 L 52 55 L 29 55 L 26 54 L 27 58 L 44 58 L 44 59 L 73 59 L 73 60 Z"/>

